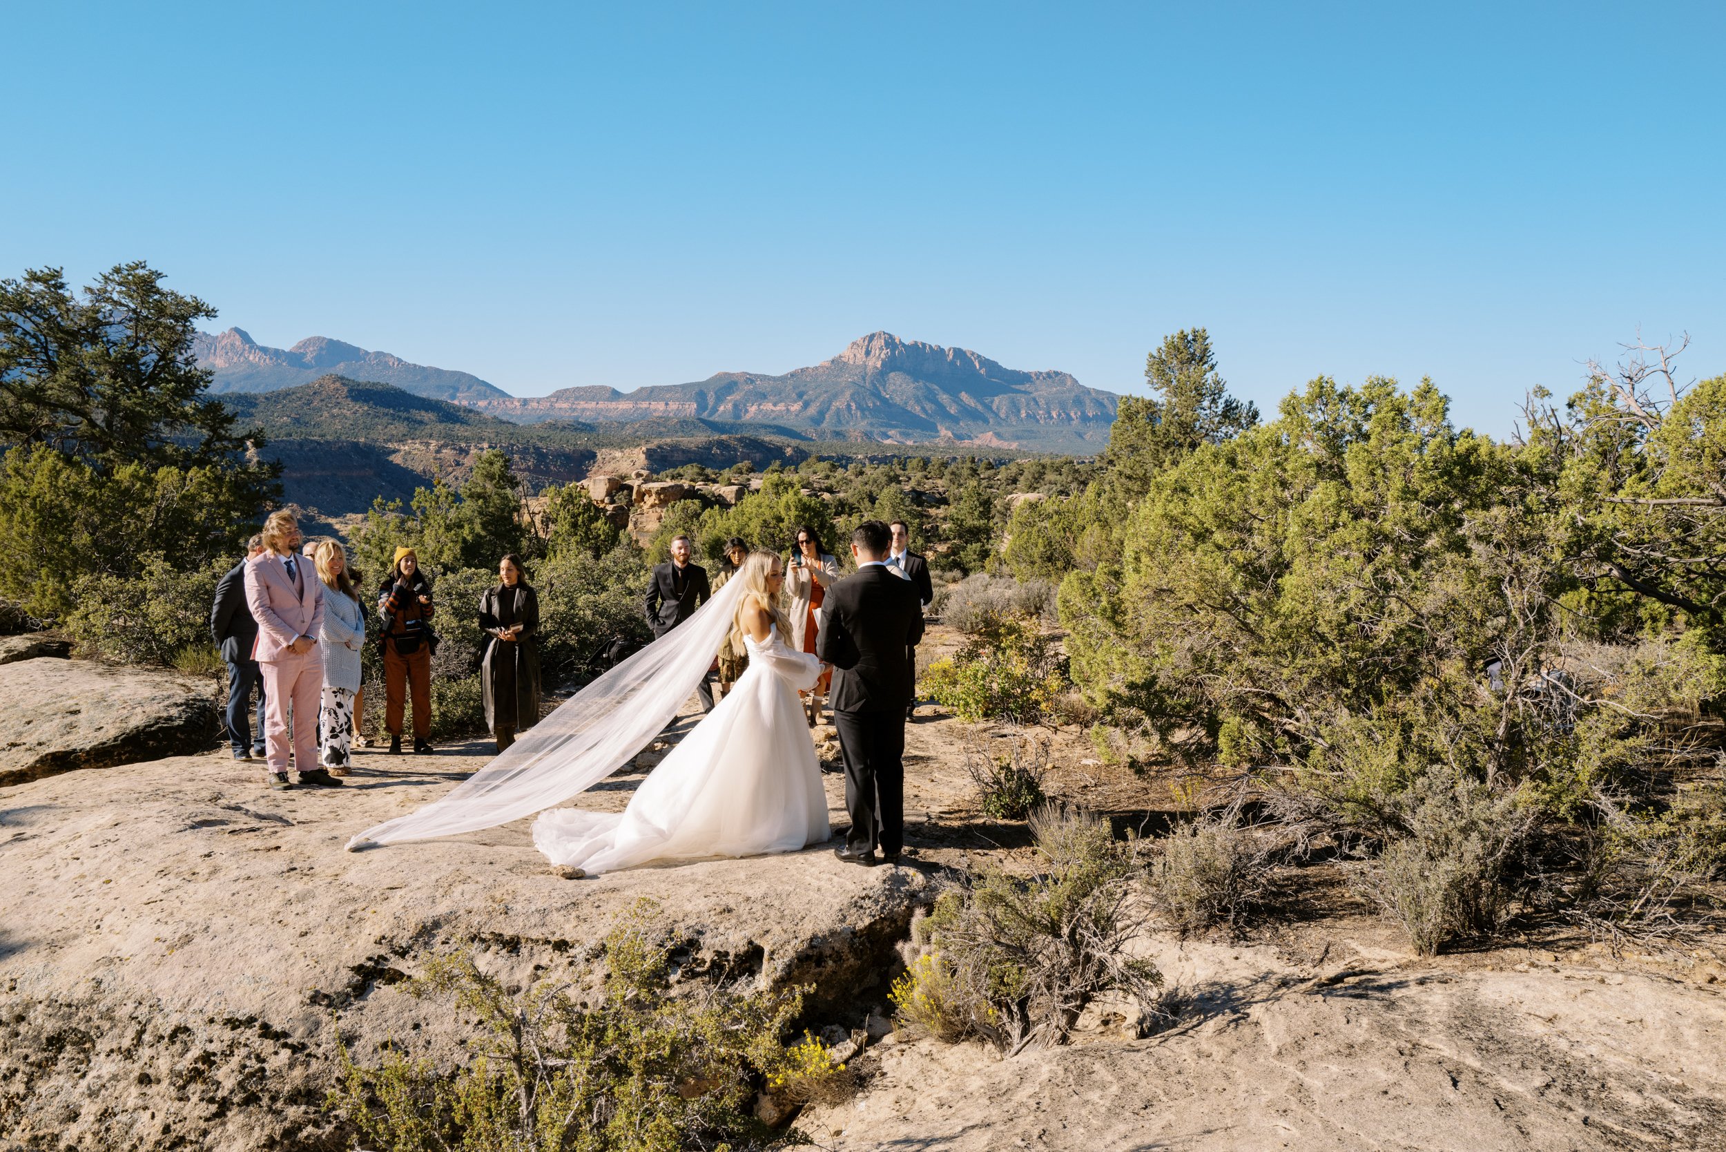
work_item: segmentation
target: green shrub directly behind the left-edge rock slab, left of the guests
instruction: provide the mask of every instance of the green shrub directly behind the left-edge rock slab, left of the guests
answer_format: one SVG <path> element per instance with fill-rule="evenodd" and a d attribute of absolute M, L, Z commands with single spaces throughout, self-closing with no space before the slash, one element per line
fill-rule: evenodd
<path fill-rule="evenodd" d="M 180 572 L 161 556 L 147 556 L 138 577 L 81 577 L 66 630 L 79 653 L 97 660 L 202 667 L 212 651 L 209 618 L 216 584 L 233 563 L 224 558 Z"/>

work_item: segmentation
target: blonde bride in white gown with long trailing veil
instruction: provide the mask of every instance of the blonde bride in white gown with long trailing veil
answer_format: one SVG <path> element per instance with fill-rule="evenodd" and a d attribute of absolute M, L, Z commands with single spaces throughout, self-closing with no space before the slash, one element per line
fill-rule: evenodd
<path fill-rule="evenodd" d="M 784 567 L 753 553 L 689 620 L 611 668 L 447 796 L 349 841 L 350 851 L 454 836 L 535 812 L 533 843 L 594 876 L 656 860 L 796 851 L 828 838 L 827 794 L 797 691 L 820 661 L 792 651 Z M 732 632 L 749 670 L 621 813 L 554 808 L 611 775 L 677 715 Z"/>

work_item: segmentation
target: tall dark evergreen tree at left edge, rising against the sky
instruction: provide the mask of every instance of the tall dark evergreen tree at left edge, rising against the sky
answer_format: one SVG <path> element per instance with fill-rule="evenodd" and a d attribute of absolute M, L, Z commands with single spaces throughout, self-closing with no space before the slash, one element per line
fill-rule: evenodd
<path fill-rule="evenodd" d="M 161 280 L 0 280 L 0 596 L 33 617 L 69 613 L 85 577 L 236 556 L 278 491 L 261 434 L 205 396 L 192 339 L 214 311 Z"/>

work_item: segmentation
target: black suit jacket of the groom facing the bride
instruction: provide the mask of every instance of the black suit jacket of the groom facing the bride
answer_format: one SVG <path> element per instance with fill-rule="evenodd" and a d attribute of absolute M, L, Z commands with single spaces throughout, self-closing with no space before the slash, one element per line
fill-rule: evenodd
<path fill-rule="evenodd" d="M 815 653 L 834 665 L 834 712 L 903 712 L 911 701 L 904 649 L 923 637 L 917 585 L 882 565 L 827 589 Z"/>

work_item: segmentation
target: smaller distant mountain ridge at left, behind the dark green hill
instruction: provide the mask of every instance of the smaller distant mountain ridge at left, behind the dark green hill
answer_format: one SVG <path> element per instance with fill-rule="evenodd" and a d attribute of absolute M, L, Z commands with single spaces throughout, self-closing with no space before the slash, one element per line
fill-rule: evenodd
<path fill-rule="evenodd" d="M 243 328 L 230 328 L 216 335 L 200 332 L 192 349 L 198 364 L 216 373 L 212 392 L 274 392 L 335 375 L 394 383 L 416 396 L 464 404 L 509 397 L 497 385 L 466 371 L 411 364 L 400 356 L 368 352 L 328 337 L 309 337 L 290 349 L 280 349 L 259 344 Z"/>

